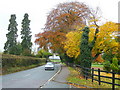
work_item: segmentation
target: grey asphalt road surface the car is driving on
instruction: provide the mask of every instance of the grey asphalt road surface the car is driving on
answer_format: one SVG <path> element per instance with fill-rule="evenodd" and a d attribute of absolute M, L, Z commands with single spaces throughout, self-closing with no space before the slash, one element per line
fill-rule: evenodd
<path fill-rule="evenodd" d="M 58 70 L 60 65 L 55 65 L 55 70 L 44 70 L 44 66 L 0 76 L 2 88 L 39 88 L 46 83 Z"/>

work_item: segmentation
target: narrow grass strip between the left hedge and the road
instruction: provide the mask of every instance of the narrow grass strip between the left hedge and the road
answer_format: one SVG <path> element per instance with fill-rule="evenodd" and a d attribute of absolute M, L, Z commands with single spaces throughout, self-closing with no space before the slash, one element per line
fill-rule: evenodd
<path fill-rule="evenodd" d="M 44 64 L 45 63 L 40 63 L 40 64 L 36 64 L 36 65 L 29 65 L 29 66 L 23 66 L 23 67 L 2 68 L 2 74 L 0 74 L 0 75 L 6 75 L 6 74 L 10 74 L 10 73 L 15 73 L 15 72 L 35 68 L 35 67 L 38 67 L 38 66 L 41 66 L 41 65 L 44 65 Z"/>

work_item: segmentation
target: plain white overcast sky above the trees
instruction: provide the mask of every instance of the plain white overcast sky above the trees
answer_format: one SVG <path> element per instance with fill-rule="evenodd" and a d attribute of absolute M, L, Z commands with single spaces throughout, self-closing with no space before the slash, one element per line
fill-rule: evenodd
<path fill-rule="evenodd" d="M 21 31 L 21 22 L 25 13 L 29 14 L 31 20 L 32 42 L 35 41 L 35 34 L 42 32 L 47 14 L 57 4 L 69 1 L 85 2 L 91 8 L 99 7 L 102 12 L 102 21 L 118 22 L 118 1 L 119 0 L 0 0 L 0 52 L 4 51 L 6 34 L 11 14 L 16 14 L 18 23 L 18 35 Z M 20 40 L 20 36 L 18 37 Z M 34 45 L 33 48 L 37 47 Z"/>

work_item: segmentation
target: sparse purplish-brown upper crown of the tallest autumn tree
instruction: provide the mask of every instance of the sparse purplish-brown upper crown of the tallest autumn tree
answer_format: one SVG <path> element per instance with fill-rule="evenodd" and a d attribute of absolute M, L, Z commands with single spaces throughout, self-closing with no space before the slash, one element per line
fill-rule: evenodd
<path fill-rule="evenodd" d="M 74 25 L 85 25 L 85 18 L 90 14 L 90 9 L 84 3 L 68 2 L 59 4 L 53 9 L 45 24 L 46 31 L 62 31 L 67 33 Z"/>

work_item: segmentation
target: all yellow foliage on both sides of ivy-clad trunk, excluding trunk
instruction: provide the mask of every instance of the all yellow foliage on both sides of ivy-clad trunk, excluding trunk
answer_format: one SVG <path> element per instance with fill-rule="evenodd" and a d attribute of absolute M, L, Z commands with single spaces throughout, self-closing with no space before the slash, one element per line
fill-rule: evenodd
<path fill-rule="evenodd" d="M 66 35 L 66 41 L 63 43 L 64 50 L 69 57 L 77 58 L 80 52 L 80 40 L 83 27 L 76 26 L 77 30 L 69 32 Z M 112 49 L 114 53 L 118 51 L 118 42 L 115 40 L 115 31 L 118 30 L 118 26 L 116 23 L 107 22 L 104 25 L 100 26 L 99 33 L 97 34 L 97 39 L 95 45 L 93 47 L 92 52 L 94 53 L 102 53 L 107 52 L 109 49 Z M 93 41 L 95 37 L 96 27 L 94 25 L 90 26 L 89 32 L 89 43 Z"/>

